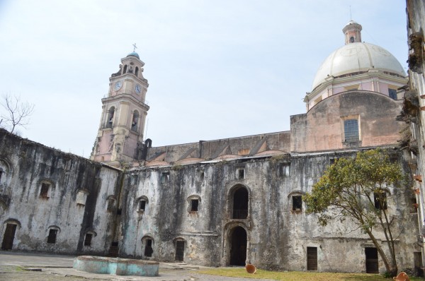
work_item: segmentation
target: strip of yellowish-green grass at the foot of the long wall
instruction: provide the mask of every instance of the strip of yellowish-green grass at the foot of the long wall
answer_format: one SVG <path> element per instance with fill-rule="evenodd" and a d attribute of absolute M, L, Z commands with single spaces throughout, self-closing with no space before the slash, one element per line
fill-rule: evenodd
<path fill-rule="evenodd" d="M 246 273 L 245 268 L 214 268 L 210 270 L 199 270 L 196 273 L 207 275 L 220 275 L 227 277 L 244 277 L 255 279 L 271 279 L 271 280 L 285 280 L 285 281 L 376 281 L 376 280 L 392 280 L 385 279 L 379 274 L 365 274 L 365 273 L 313 273 L 301 271 L 268 271 L 257 270 L 255 274 Z M 412 281 L 424 280 L 419 277 L 410 277 Z"/>

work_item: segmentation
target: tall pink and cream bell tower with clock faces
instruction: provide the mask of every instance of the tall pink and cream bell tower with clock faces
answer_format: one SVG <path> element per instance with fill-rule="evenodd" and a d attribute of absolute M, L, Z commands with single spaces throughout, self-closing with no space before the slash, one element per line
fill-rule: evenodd
<path fill-rule="evenodd" d="M 121 59 L 120 69 L 109 78 L 108 97 L 102 99 L 101 124 L 91 160 L 119 167 L 123 162 L 140 158 L 149 110 L 145 104 L 149 84 L 142 76 L 144 65 L 133 51 Z"/>

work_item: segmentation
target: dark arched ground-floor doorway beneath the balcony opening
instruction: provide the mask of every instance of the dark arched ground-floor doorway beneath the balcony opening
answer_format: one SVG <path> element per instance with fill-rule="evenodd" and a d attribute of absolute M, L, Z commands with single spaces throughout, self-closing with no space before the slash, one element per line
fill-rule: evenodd
<path fill-rule="evenodd" d="M 245 265 L 246 261 L 246 231 L 243 227 L 234 227 L 229 235 L 230 265 Z"/>

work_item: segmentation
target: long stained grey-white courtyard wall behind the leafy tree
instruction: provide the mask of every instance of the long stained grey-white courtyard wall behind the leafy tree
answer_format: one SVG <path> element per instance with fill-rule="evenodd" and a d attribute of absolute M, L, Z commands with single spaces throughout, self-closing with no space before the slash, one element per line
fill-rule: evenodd
<path fill-rule="evenodd" d="M 149 236 L 154 240 L 152 258 L 174 261 L 175 241 L 184 239 L 185 262 L 229 265 L 229 233 L 242 226 L 248 237 L 246 260 L 259 268 L 306 270 L 307 246 L 315 246 L 319 271 L 364 272 L 364 248 L 373 244 L 352 222 L 320 227 L 314 215 L 292 210 L 292 196 L 310 191 L 331 158 L 355 153 L 280 155 L 133 169 L 125 177 L 120 254 L 145 258 L 142 237 Z M 402 155 L 397 156 L 404 171 L 409 172 Z M 290 177 L 278 176 L 280 163 L 290 163 Z M 236 171 L 241 168 L 245 169 L 245 178 L 237 179 Z M 201 171 L 205 173 L 203 181 Z M 162 172 L 170 173 L 169 183 L 161 183 Z M 137 184 L 130 184 L 131 175 L 138 176 Z M 232 190 L 241 185 L 249 191 L 249 215 L 246 220 L 234 220 Z M 397 196 L 388 198 L 390 213 L 396 217 L 395 228 L 403 230 L 397 240 L 399 268 L 413 268 L 413 251 L 418 246 L 414 232 L 407 229 L 416 227 L 416 214 L 409 213 L 407 195 L 395 189 L 391 193 Z M 199 210 L 189 213 L 188 197 L 193 195 L 200 198 Z M 137 212 L 140 196 L 149 200 L 144 213 Z M 382 239 L 383 235 L 378 237 Z M 381 259 L 380 271 L 385 271 Z"/>

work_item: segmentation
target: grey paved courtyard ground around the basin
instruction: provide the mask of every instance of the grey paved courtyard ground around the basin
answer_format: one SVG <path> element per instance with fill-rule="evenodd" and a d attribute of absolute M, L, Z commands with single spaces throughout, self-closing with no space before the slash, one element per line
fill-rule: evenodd
<path fill-rule="evenodd" d="M 257 279 L 220 277 L 199 274 L 206 267 L 185 263 L 160 263 L 159 276 L 119 276 L 86 273 L 72 268 L 75 256 L 42 253 L 15 253 L 0 251 L 0 280 L 160 280 L 160 281 L 255 281 Z"/>

